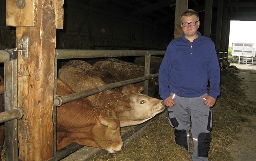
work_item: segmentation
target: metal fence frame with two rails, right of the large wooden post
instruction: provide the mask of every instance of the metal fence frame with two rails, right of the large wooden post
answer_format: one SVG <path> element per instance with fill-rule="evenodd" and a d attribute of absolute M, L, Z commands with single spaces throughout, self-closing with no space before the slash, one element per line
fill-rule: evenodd
<path fill-rule="evenodd" d="M 157 55 L 164 55 L 165 51 L 152 51 L 152 50 L 60 50 L 56 49 L 56 58 L 55 58 L 55 67 L 54 67 L 54 87 L 57 86 L 57 62 L 58 59 L 72 59 L 72 58 L 105 58 L 105 57 L 125 57 L 125 56 L 145 56 L 145 70 L 144 70 L 144 77 L 134 78 L 131 80 L 120 81 L 116 83 L 107 84 L 101 87 L 96 87 L 94 89 L 88 89 L 86 91 L 81 91 L 77 93 L 72 93 L 70 95 L 66 95 L 63 97 L 56 96 L 56 88 L 54 89 L 54 114 L 53 114 L 53 121 L 54 121 L 54 158 L 61 159 L 66 157 L 67 155 L 73 153 L 77 149 L 82 146 L 78 146 L 77 144 L 68 145 L 68 148 L 65 148 L 65 153 L 63 150 L 56 150 L 56 125 L 57 125 L 57 113 L 56 113 L 56 106 L 61 105 L 62 103 L 67 103 L 68 101 L 79 99 L 82 97 L 86 97 L 89 95 L 93 95 L 99 93 L 100 91 L 104 91 L 107 89 L 113 89 L 115 87 L 121 87 L 127 84 L 136 83 L 139 81 L 144 81 L 144 93 L 148 94 L 148 80 L 152 79 L 152 77 L 158 77 L 158 74 L 150 75 L 150 64 L 151 64 L 151 56 Z"/>

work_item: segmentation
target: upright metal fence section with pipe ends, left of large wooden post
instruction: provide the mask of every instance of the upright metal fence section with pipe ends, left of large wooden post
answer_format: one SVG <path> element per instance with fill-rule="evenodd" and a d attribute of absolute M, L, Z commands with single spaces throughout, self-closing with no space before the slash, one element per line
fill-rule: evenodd
<path fill-rule="evenodd" d="M 0 50 L 0 62 L 4 62 L 4 112 L 0 113 L 5 122 L 5 159 L 18 160 L 18 123 L 23 117 L 17 107 L 17 54 L 16 49 Z"/>

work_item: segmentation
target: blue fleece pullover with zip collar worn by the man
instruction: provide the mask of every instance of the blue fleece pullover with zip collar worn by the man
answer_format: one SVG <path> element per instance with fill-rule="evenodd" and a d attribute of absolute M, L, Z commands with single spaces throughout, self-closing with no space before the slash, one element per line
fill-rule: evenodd
<path fill-rule="evenodd" d="M 163 100 L 171 92 L 181 97 L 208 93 L 216 99 L 220 95 L 220 67 L 214 42 L 197 34 L 192 43 L 183 33 L 168 45 L 159 70 L 159 94 Z"/>

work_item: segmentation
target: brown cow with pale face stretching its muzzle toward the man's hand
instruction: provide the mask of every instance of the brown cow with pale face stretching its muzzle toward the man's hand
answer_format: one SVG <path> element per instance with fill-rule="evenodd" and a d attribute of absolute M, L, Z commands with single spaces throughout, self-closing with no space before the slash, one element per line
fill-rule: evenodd
<path fill-rule="evenodd" d="M 58 74 L 75 92 L 106 85 L 100 78 L 88 76 L 78 68 L 70 66 L 63 66 Z M 121 127 L 143 123 L 162 112 L 165 107 L 162 100 L 137 91 L 132 92 L 128 86 L 123 87 L 122 92 L 109 89 L 87 98 L 96 105 L 113 105 Z"/>

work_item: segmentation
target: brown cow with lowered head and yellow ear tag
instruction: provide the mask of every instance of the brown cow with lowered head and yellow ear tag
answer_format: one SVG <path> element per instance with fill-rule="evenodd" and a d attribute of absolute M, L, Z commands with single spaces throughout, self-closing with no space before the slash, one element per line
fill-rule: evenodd
<path fill-rule="evenodd" d="M 57 94 L 71 93 L 74 91 L 58 79 Z M 57 149 L 72 142 L 105 149 L 109 153 L 122 150 L 120 122 L 112 106 L 96 106 L 83 98 L 57 107 Z"/>

